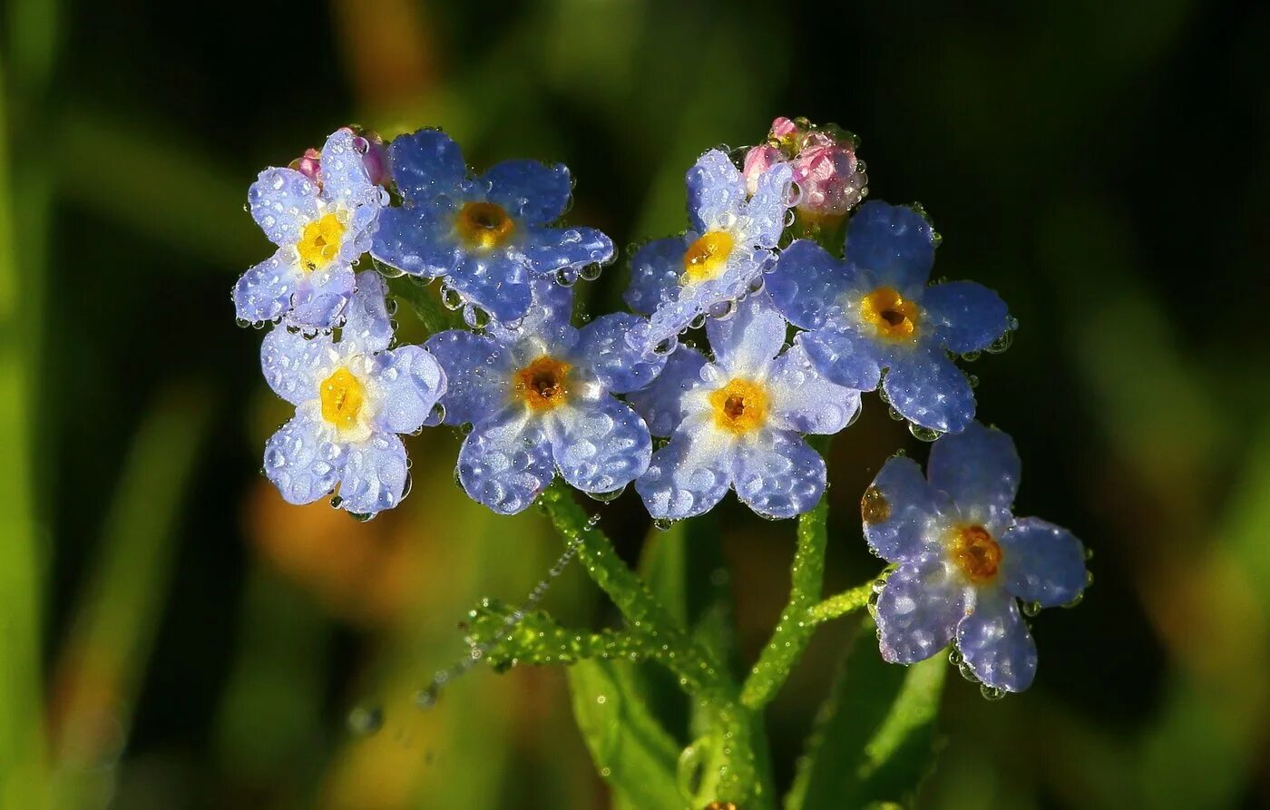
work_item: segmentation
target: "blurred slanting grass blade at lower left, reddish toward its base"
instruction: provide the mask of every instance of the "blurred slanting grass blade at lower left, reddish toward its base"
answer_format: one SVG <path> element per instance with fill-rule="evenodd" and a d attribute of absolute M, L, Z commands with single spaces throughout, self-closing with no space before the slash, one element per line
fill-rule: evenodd
<path fill-rule="evenodd" d="M 102 806 L 109 796 L 103 766 L 127 740 L 210 414 L 201 387 L 178 385 L 157 396 L 133 438 L 58 661 L 51 707 L 58 806 Z"/>

